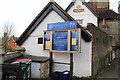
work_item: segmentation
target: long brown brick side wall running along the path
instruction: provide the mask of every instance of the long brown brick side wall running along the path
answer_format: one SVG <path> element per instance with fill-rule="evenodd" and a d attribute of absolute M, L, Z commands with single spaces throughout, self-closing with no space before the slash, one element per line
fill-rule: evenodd
<path fill-rule="evenodd" d="M 88 30 L 93 34 L 94 76 L 109 62 L 109 56 L 112 52 L 112 37 L 91 23 L 88 24 Z"/>

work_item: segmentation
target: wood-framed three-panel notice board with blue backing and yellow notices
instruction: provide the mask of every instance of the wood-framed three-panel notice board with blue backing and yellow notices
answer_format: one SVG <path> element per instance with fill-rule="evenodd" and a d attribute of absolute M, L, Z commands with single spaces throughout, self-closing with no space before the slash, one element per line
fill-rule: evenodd
<path fill-rule="evenodd" d="M 80 53 L 80 28 L 50 30 L 43 34 L 44 51 Z"/>

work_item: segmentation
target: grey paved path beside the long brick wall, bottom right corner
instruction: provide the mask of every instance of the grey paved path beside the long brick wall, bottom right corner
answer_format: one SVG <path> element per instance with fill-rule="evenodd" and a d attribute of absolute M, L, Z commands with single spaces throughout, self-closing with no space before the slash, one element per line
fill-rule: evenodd
<path fill-rule="evenodd" d="M 119 50 L 120 52 L 120 50 Z M 98 75 L 97 80 L 120 80 L 120 54 L 112 64 L 103 69 Z"/>

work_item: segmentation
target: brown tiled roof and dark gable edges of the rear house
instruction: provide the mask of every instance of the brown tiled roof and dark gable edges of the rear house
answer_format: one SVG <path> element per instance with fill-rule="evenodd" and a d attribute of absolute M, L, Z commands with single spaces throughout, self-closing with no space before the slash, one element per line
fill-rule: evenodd
<path fill-rule="evenodd" d="M 74 5 L 75 2 L 71 2 L 70 5 L 66 8 L 66 12 Z M 96 2 L 84 2 L 85 6 L 99 19 L 107 18 L 107 19 L 118 19 L 118 14 L 113 10 L 108 8 L 97 8 Z"/>

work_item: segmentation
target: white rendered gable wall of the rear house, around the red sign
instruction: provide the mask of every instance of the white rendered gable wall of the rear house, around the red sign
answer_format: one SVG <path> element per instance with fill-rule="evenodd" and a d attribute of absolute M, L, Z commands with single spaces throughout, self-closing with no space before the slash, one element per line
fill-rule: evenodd
<path fill-rule="evenodd" d="M 76 9 L 76 6 L 80 5 L 84 11 L 75 13 L 73 9 Z M 93 23 L 94 25 L 98 26 L 97 17 L 84 5 L 80 0 L 75 2 L 75 5 L 70 8 L 68 14 L 71 15 L 75 20 L 82 19 L 83 20 L 83 27 L 87 26 L 87 23 Z"/>

